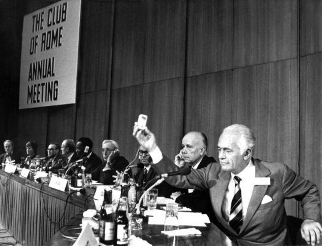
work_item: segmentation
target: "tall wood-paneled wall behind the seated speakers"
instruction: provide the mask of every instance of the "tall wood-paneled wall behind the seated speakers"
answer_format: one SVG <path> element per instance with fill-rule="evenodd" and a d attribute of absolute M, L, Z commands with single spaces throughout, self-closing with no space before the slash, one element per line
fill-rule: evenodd
<path fill-rule="evenodd" d="M 16 13 L 14 22 L 6 15 L 14 31 L 1 30 L 13 40 L 13 57 L 20 57 L 23 15 L 51 2 L 0 2 L 1 14 Z M 1 94 L 1 102 L 14 101 L 10 110 L 0 106 L 11 114 L 1 139 L 13 138 L 21 150 L 34 139 L 44 155 L 49 142 L 88 136 L 100 155 L 102 140 L 112 138 L 132 160 L 133 122 L 144 113 L 170 158 L 182 136 L 198 130 L 218 159 L 221 130 L 242 123 L 257 137 L 255 157 L 285 163 L 322 190 L 322 1 L 82 3 L 77 104 L 18 111 L 17 93 Z M 1 62 L 1 88 L 15 91 L 20 59 L 1 51 L 10 64 Z M 294 201 L 287 211 L 298 213 Z"/>

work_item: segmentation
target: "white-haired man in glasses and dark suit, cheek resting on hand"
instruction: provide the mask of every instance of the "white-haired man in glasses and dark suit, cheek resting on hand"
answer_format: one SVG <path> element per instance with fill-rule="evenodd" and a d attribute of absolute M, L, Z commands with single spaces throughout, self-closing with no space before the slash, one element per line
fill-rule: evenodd
<path fill-rule="evenodd" d="M 118 143 L 111 139 L 106 139 L 102 143 L 103 163 L 92 172 L 92 179 L 104 185 L 113 185 L 113 176 L 117 171 L 124 171 L 128 166 L 128 160 L 119 155 Z"/>

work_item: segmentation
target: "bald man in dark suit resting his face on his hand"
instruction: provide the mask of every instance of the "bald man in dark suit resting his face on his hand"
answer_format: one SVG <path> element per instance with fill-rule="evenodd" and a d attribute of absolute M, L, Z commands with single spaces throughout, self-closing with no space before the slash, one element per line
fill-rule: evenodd
<path fill-rule="evenodd" d="M 182 149 L 175 156 L 175 165 L 179 168 L 201 169 L 215 163 L 213 157 L 207 156 L 208 140 L 204 133 L 191 131 L 182 138 Z M 175 202 L 191 208 L 193 211 L 206 213 L 213 220 L 213 209 L 207 190 L 189 189 L 188 192 L 174 192 L 171 198 Z"/>

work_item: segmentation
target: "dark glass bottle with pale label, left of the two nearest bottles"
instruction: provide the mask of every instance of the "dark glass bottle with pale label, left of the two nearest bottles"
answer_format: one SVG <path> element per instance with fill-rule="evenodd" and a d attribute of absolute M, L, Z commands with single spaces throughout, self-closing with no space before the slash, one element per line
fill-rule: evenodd
<path fill-rule="evenodd" d="M 115 217 L 112 205 L 112 190 L 104 190 L 104 201 L 99 215 L 99 242 L 105 245 L 115 243 Z"/>

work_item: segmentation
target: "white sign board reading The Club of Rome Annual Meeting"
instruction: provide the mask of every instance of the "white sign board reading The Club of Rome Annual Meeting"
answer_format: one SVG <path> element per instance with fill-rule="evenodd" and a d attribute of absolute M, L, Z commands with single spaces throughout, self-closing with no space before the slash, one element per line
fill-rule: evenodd
<path fill-rule="evenodd" d="M 19 109 L 76 102 L 81 0 L 24 16 Z"/>

